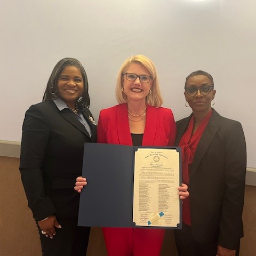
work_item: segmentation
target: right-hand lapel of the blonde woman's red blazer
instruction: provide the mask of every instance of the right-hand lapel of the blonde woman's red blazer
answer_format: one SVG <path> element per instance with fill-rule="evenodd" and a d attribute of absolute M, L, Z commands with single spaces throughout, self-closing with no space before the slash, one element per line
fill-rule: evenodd
<path fill-rule="evenodd" d="M 142 146 L 154 146 L 158 123 L 157 109 L 150 105 L 147 106 L 147 119 L 145 131 L 142 139 Z"/>

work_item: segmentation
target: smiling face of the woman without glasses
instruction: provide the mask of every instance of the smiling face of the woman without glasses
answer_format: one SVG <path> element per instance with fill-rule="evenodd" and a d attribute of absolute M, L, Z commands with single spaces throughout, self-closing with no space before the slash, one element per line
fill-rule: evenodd
<path fill-rule="evenodd" d="M 60 98 L 74 109 L 77 99 L 84 91 L 81 71 L 74 66 L 66 67 L 59 76 L 57 87 Z"/>

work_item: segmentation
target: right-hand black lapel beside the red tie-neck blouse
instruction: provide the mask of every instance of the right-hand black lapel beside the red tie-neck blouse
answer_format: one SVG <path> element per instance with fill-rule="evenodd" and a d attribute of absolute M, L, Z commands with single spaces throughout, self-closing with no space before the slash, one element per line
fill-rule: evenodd
<path fill-rule="evenodd" d="M 190 167 L 190 179 L 196 172 L 196 169 L 201 162 L 206 150 L 209 148 L 215 134 L 217 133 L 220 126 L 220 115 L 213 109 L 212 116 L 207 124 L 202 137 L 197 145 L 196 154 L 194 157 L 194 161 Z"/>

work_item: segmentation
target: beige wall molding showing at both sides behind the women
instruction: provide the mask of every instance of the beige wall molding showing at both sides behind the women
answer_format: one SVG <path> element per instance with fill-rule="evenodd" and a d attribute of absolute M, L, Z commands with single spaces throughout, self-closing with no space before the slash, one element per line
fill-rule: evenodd
<path fill-rule="evenodd" d="M 19 141 L 0 140 L 0 156 L 20 158 Z M 245 184 L 256 186 L 256 168 L 246 168 Z"/>

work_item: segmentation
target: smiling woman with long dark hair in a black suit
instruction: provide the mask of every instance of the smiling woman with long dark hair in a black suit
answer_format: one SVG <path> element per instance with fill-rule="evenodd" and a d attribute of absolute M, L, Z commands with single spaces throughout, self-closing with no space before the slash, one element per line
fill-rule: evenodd
<path fill-rule="evenodd" d="M 90 227 L 77 227 L 85 142 L 96 141 L 85 70 L 73 58 L 60 60 L 43 102 L 31 106 L 22 127 L 20 172 L 41 239 L 43 255 L 81 255 Z M 52 239 L 51 239 L 52 238 Z"/>

